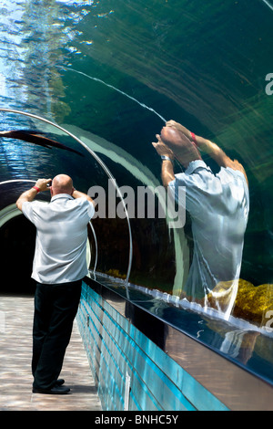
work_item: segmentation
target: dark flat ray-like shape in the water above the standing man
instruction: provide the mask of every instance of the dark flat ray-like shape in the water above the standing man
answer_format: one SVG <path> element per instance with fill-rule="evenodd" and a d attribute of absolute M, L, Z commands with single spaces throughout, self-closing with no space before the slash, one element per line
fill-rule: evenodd
<path fill-rule="evenodd" d="M 38 144 L 44 148 L 51 149 L 52 147 L 55 147 L 57 149 L 64 149 L 65 151 L 75 152 L 80 156 L 84 156 L 81 152 L 71 149 L 58 141 L 48 139 L 45 135 L 41 134 L 45 134 L 45 132 L 31 130 L 0 131 L 0 138 L 5 137 L 7 139 L 23 140 L 28 143 Z"/>

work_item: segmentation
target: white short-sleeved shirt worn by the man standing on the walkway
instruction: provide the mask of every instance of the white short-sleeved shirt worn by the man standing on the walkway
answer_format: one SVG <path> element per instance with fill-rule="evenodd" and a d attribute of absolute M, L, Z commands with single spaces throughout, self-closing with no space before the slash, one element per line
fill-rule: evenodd
<path fill-rule="evenodd" d="M 85 277 L 87 224 L 95 213 L 94 205 L 85 197 L 56 194 L 50 203 L 25 202 L 22 211 L 36 227 L 31 277 L 45 284 Z"/>

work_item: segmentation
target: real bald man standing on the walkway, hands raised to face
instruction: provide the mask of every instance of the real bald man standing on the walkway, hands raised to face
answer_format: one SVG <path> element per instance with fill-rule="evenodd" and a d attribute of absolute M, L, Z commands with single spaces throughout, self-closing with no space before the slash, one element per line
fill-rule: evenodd
<path fill-rule="evenodd" d="M 69 389 L 58 380 L 73 320 L 81 295 L 86 266 L 87 224 L 95 213 L 94 202 L 76 191 L 71 177 L 39 179 L 16 205 L 36 227 L 32 277 L 35 290 L 33 327 L 33 392 L 64 394 Z M 33 201 L 50 189 L 50 203 Z"/>

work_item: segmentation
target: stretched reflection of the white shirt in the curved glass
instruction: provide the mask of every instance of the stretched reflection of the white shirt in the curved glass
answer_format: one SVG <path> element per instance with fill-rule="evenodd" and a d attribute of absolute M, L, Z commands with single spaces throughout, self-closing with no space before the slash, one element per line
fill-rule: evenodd
<path fill-rule="evenodd" d="M 185 292 L 203 298 L 220 281 L 238 279 L 248 224 L 248 183 L 243 173 L 221 167 L 212 173 L 204 161 L 190 162 L 169 188 L 177 199 L 186 187 L 194 254 Z"/>

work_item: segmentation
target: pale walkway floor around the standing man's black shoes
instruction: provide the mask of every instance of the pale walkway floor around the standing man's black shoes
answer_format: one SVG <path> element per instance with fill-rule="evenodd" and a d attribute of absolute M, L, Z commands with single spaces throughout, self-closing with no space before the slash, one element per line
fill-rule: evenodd
<path fill-rule="evenodd" d="M 61 373 L 71 392 L 32 393 L 32 321 L 33 297 L 0 296 L 0 410 L 100 411 L 76 322 Z"/>

